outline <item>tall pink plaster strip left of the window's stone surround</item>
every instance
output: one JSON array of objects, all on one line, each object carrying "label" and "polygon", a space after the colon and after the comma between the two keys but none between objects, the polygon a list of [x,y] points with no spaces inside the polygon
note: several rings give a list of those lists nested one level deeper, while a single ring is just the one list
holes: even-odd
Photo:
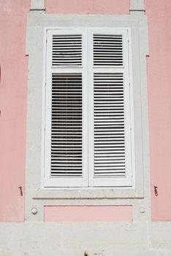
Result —
[{"label": "tall pink plaster strip left of the window's stone surround", "polygon": [[0,221],[24,220],[26,13],[29,0],[0,0]]}]

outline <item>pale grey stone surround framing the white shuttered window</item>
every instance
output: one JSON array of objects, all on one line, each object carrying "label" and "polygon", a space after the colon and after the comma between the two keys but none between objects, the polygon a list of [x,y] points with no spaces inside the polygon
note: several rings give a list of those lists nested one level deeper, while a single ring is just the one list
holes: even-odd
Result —
[{"label": "pale grey stone surround framing the white shuttered window", "polygon": [[[45,93],[45,28],[54,27],[128,27],[132,33],[133,86],[134,100],[134,140],[135,140],[135,187],[103,189],[43,189],[41,188],[41,145],[42,141],[42,108]],[[26,52],[28,62],[28,113],[27,113],[27,153],[26,153],[26,220],[42,221],[43,207],[49,205],[84,205],[86,200],[91,204],[115,203],[131,204],[134,219],[139,219],[139,208],[145,208],[145,219],[150,213],[150,170],[148,145],[148,104],[146,85],[146,60],[148,54],[148,24],[145,15],[39,15],[28,14]],[[35,86],[36,85],[36,86]],[[31,214],[31,208],[38,209]]]}]

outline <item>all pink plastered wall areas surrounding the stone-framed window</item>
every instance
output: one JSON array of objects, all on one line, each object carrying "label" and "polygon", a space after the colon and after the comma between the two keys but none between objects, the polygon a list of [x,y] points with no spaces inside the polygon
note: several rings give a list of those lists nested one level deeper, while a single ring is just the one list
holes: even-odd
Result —
[{"label": "all pink plastered wall areas surrounding the stone-framed window", "polygon": [[[129,0],[47,0],[47,13],[129,14]],[[150,124],[151,197],[153,221],[171,220],[171,2],[145,0],[148,15],[150,56],[147,57],[148,113]],[[25,219],[26,173],[26,90],[28,57],[26,53],[26,15],[29,0],[0,0],[0,221],[23,222]],[[158,196],[153,187],[158,187]],[[23,196],[20,189],[23,189]],[[56,208],[57,207],[57,208]],[[98,210],[93,206],[94,214]],[[115,206],[116,208],[119,206]],[[131,206],[116,211],[106,208],[99,221],[131,221]],[[77,221],[56,217],[58,206],[45,208],[45,221]],[[119,210],[119,211],[118,211]],[[70,208],[66,209],[66,212]],[[82,217],[96,221],[92,206],[82,208]],[[74,213],[73,213],[74,214]],[[112,214],[112,215],[111,215]],[[91,219],[92,217],[92,219]],[[104,218],[103,218],[104,217]],[[59,219],[58,219],[59,218]]]}]

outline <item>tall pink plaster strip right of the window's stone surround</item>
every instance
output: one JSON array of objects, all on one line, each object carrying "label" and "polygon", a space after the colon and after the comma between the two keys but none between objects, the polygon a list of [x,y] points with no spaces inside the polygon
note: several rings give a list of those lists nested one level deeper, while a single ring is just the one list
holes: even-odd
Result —
[{"label": "tall pink plaster strip right of the window's stone surround", "polygon": [[[152,219],[171,220],[171,1],[145,0],[149,21],[148,106]],[[158,187],[158,196],[153,186]]]}]

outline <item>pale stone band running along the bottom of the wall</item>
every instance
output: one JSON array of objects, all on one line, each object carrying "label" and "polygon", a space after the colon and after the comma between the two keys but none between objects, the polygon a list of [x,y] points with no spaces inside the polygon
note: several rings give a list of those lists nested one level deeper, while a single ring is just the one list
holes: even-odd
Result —
[{"label": "pale stone band running along the bottom of the wall", "polygon": [[171,222],[1,222],[0,255],[169,256],[170,233]]}]

